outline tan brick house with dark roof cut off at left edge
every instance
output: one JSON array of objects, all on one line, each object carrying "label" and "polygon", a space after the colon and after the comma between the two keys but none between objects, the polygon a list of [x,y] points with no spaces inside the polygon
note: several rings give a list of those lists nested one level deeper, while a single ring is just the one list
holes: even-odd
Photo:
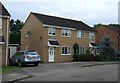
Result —
[{"label": "tan brick house with dark roof cut off at left edge", "polygon": [[8,48],[9,48],[9,22],[10,14],[0,2],[0,57],[3,66],[8,65]]}]

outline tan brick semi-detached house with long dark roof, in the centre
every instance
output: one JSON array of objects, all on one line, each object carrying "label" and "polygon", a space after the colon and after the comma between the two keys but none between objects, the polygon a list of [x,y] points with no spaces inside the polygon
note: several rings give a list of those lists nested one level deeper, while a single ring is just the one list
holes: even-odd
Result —
[{"label": "tan brick semi-detached house with long dark roof, in the centre", "polygon": [[95,43],[95,33],[81,21],[31,12],[21,30],[21,50],[36,50],[43,62],[68,62],[73,45],[85,54]]}]

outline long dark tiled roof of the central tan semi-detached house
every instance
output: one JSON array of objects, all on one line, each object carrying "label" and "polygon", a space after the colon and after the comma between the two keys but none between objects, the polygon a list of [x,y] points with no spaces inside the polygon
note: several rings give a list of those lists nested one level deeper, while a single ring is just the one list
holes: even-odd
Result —
[{"label": "long dark tiled roof of the central tan semi-detached house", "polygon": [[83,23],[82,21],[76,21],[61,17],[55,17],[55,16],[48,16],[38,13],[33,13],[43,24],[47,25],[54,25],[54,26],[61,26],[61,27],[68,27],[68,28],[75,28],[77,30],[85,30],[85,31],[94,31],[90,26]]}]

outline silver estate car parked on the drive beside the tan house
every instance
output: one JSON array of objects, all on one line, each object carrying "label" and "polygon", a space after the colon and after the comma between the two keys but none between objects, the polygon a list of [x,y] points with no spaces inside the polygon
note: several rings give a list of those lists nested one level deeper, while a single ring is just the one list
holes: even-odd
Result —
[{"label": "silver estate car parked on the drive beside the tan house", "polygon": [[10,58],[10,64],[18,66],[25,66],[26,64],[38,66],[40,62],[40,55],[36,51],[19,51]]}]

